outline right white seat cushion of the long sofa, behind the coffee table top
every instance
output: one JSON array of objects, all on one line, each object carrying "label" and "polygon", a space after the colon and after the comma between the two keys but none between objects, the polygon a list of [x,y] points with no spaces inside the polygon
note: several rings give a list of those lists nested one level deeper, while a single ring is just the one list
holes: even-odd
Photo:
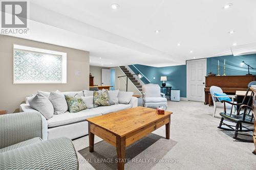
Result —
[{"label": "right white seat cushion of the long sofa, behind the coffee table top", "polygon": [[107,113],[116,112],[116,111],[129,109],[129,108],[132,108],[132,105],[117,104],[117,105],[111,105],[111,106],[100,106],[90,110],[95,112],[100,112],[101,114],[107,114]]}]

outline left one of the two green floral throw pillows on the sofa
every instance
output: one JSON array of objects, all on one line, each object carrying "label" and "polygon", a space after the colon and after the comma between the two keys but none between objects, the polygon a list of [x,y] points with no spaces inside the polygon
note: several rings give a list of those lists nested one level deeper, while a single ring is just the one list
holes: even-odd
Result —
[{"label": "left one of the two green floral throw pillows on the sofa", "polygon": [[86,104],[83,102],[81,96],[78,94],[76,94],[75,96],[65,95],[65,99],[67,101],[70,113],[75,113],[87,109]]}]

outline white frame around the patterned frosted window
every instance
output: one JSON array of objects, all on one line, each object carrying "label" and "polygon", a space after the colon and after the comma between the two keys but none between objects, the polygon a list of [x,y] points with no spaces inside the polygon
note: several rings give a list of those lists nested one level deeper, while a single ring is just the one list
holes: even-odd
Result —
[{"label": "white frame around the patterned frosted window", "polygon": [[[62,57],[62,81],[14,81],[14,50],[25,50],[35,53],[58,55]],[[67,83],[67,53],[45,50],[41,48],[13,44],[13,84],[66,84]]]}]

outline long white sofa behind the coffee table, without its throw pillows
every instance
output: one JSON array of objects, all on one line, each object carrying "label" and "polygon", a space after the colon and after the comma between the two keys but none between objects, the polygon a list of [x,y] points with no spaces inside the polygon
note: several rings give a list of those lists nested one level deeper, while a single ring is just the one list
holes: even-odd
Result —
[{"label": "long white sofa behind the coffee table, without its throw pillows", "polygon": [[[62,92],[67,95],[83,95],[83,91],[70,91]],[[123,92],[122,92],[123,93]],[[46,119],[43,115],[42,117],[42,131],[44,140],[52,139],[57,137],[68,137],[70,139],[75,139],[88,134],[88,122],[87,118],[100,116],[102,114],[108,114],[111,112],[129,109],[138,106],[138,99],[133,97],[128,104],[115,104],[111,106],[100,106],[96,108],[81,110],[76,113],[65,112],[62,114],[54,114],[50,119]],[[21,104],[20,112],[38,112],[31,108],[28,104]]]}]

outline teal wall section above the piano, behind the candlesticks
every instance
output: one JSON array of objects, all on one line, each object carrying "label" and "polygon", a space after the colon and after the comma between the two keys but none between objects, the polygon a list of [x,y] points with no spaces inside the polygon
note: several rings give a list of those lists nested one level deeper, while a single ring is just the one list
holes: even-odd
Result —
[{"label": "teal wall section above the piano, behind the candlesticks", "polygon": [[243,56],[221,56],[207,58],[207,74],[212,72],[218,74],[218,60],[220,61],[220,75],[223,75],[224,59],[226,59],[226,75],[238,76],[246,75],[248,73],[247,65],[241,66],[240,63],[245,63],[252,66],[250,68],[250,74],[256,75],[256,54],[243,55]]}]

